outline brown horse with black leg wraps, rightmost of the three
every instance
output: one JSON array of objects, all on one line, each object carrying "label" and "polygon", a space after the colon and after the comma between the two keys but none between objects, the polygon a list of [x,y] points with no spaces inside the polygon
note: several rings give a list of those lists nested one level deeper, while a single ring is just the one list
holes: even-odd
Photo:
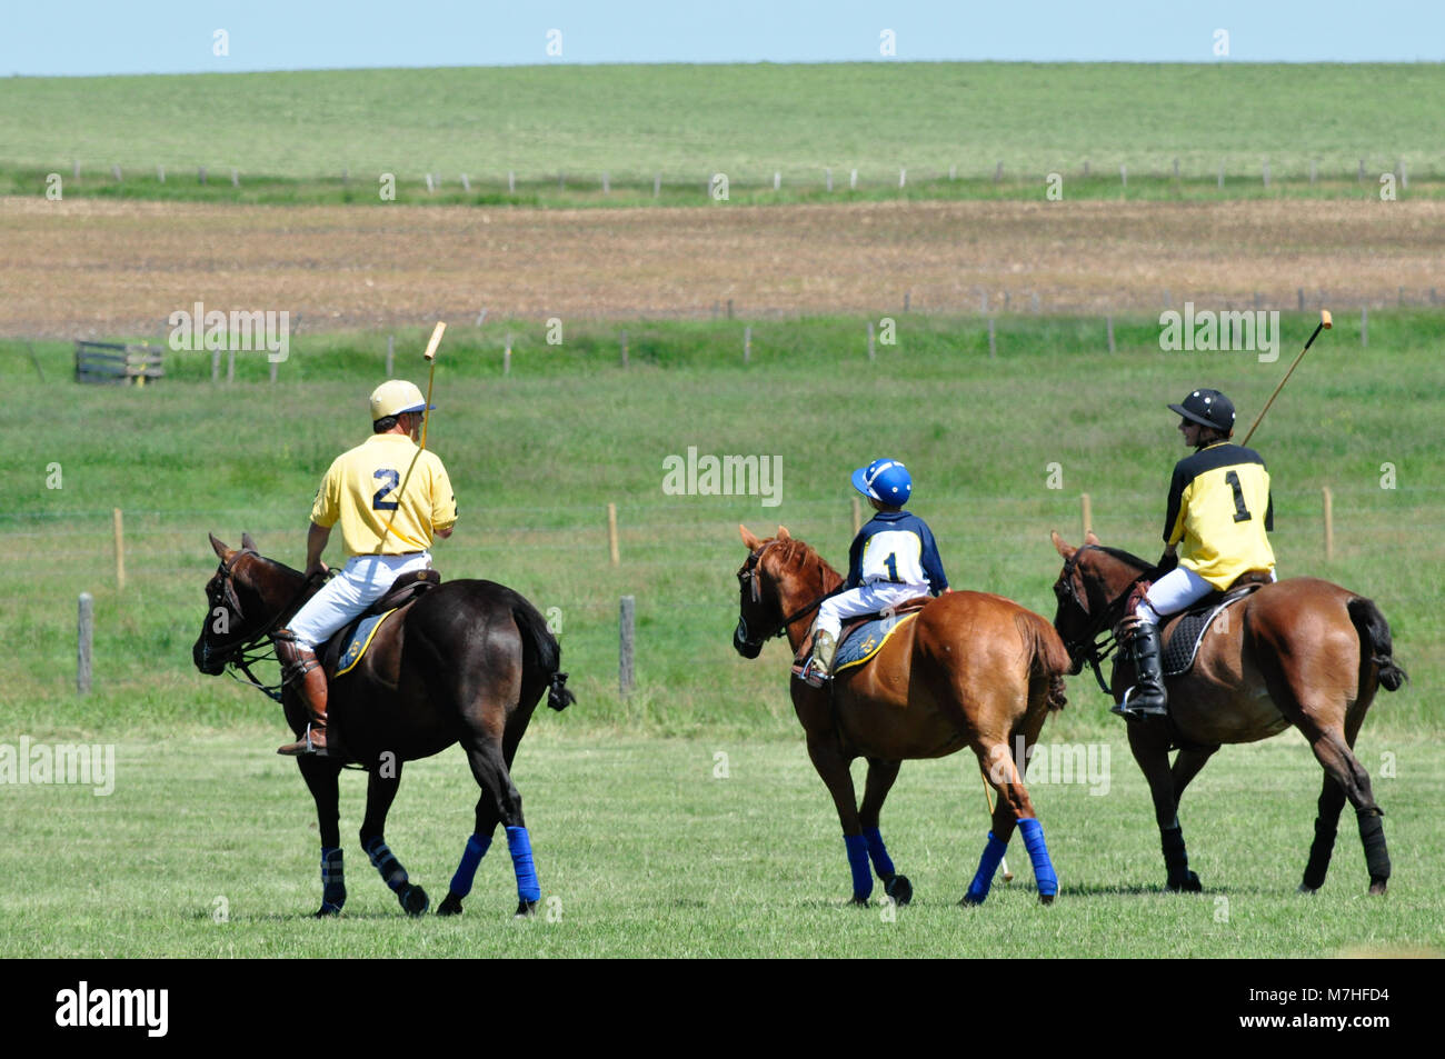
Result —
[{"label": "brown horse with black leg wraps, rightmost of the three", "polygon": [[[1140,582],[1159,571],[1129,552],[1104,548],[1088,533],[1071,548],[1053,533],[1064,569],[1053,584],[1053,626],[1078,673],[1084,663],[1105,693],[1120,701],[1134,682],[1133,665],[1120,659],[1113,688],[1104,686],[1100,662],[1108,654],[1111,628]],[[1384,811],[1376,805],[1370,776],[1354,756],[1355,737],[1377,686],[1396,691],[1407,678],[1393,659],[1390,626],[1371,600],[1319,578],[1289,578],[1259,588],[1221,614],[1199,643],[1194,667],[1166,678],[1168,718],[1129,718],[1129,748],[1155,802],[1163,848],[1166,887],[1198,893],[1199,877],[1179,826],[1179,799],[1205,761],[1224,743],[1254,743],[1290,725],[1309,741],[1325,770],[1315,819],[1315,841],[1299,886],[1314,893],[1325,884],[1335,828],[1345,799],[1355,809],[1370,873],[1370,893],[1383,894],[1390,878]],[[1166,620],[1162,639],[1173,620]],[[1169,751],[1178,747],[1173,767]]]}]

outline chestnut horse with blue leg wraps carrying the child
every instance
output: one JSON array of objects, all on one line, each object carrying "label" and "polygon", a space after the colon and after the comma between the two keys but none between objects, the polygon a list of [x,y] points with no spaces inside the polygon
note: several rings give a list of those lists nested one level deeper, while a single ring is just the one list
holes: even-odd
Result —
[{"label": "chestnut horse with blue leg wraps carrying the child", "polygon": [[[741,598],[733,646],[756,659],[769,639],[786,636],[796,654],[809,615],[842,578],[783,526],[767,540],[746,526],[738,530],[749,556],[737,572]],[[1049,711],[1064,706],[1068,666],[1064,643],[1042,615],[1001,595],[946,592],[889,636],[868,665],[837,675],[822,689],[789,680],[808,756],[838,809],[854,904],[867,904],[873,893],[870,860],[884,893],[897,904],[909,903],[913,887],[894,870],[879,832],[883,802],[903,760],[945,757],[965,747],[998,792],[998,805],[961,903],[981,904],[988,896],[1016,825],[1033,863],[1039,902],[1053,902],[1058,877],[1020,766]],[[861,806],[848,771],[858,757],[868,761]]]}]

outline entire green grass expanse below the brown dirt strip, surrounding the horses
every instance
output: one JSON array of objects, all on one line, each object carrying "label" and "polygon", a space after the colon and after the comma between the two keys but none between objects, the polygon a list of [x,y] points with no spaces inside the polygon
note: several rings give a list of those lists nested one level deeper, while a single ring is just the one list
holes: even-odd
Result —
[{"label": "entire green grass expanse below the brown dirt strip, surrounding the horses", "polygon": [[[906,459],[913,507],[938,535],[957,587],[998,591],[1052,615],[1059,561],[1048,532],[1079,536],[1079,493],[1108,543],[1155,555],[1168,472],[1185,451],[1163,409],[1189,387],[1228,392],[1248,422],[1312,321],[1285,318],[1283,354],[1157,348],[1155,321],[1006,318],[988,358],[978,319],[899,321],[899,344],[868,363],[860,319],[757,321],[741,363],[741,321],[575,325],[561,347],[513,321],[448,331],[431,444],[461,506],[436,548],[447,576],[510,584],[561,618],[578,702],[540,711],[519,753],[543,893],[561,922],[510,922],[501,847],[467,916],[406,922],[355,851],[361,783],[347,776],[348,917],[302,923],[316,903],[309,799],[277,758],[275,706],[198,675],[189,647],[215,568],[207,530],[302,559],[315,485],[367,431],[384,337],[302,335],[266,381],[260,354],[212,386],[210,355],[168,354],[144,389],[71,381],[62,344],[0,344],[12,399],[3,428],[9,510],[0,514],[0,743],[113,743],[116,793],[0,790],[10,838],[0,868],[0,955],[1332,955],[1442,945],[1435,806],[1445,728],[1435,636],[1445,496],[1438,409],[1445,314],[1371,316],[1370,345],[1342,319],[1276,402],[1256,445],[1276,485],[1274,546],[1285,575],[1314,574],[1371,595],[1413,683],[1381,695],[1361,760],[1389,811],[1396,878],[1366,900],[1348,816],[1332,881],[1315,902],[1293,889],[1311,837],[1319,769],[1296,735],[1225,748],[1183,808],[1201,897],[1166,897],[1147,792],[1120,724],[1088,676],[1045,741],[1107,743],[1110,795],[1042,784],[1035,793],[1064,878],[1052,910],[1020,873],[980,912],[954,906],[984,838],[975,766],[910,763],[884,832],[919,891],[896,922],[842,907],[837,819],[808,764],[786,692],[786,654],[756,662],[730,644],[743,559],[737,523],[785,523],[841,565],[853,467]],[[513,370],[499,337],[512,328]],[[397,373],[425,384],[420,334],[397,342]],[[33,357],[32,357],[33,354]],[[43,376],[43,380],[42,380]],[[759,496],[666,496],[663,458],[780,455],[776,507]],[[1381,465],[1396,488],[1381,488]],[[58,464],[59,467],[53,467]],[[1058,464],[1062,488],[1049,488]],[[59,474],[59,488],[48,480]],[[1334,490],[1337,555],[1322,556],[1321,487]],[[621,563],[607,558],[605,506],[618,506]],[[116,588],[111,509],[124,510],[124,592]],[[340,559],[334,548],[331,556]],[[95,595],[95,691],[74,692],[75,598]],[[617,601],[637,598],[639,691],[617,693]],[[730,777],[712,779],[714,754]],[[1387,756],[1392,756],[1387,758]],[[1394,777],[1387,773],[1393,760]],[[457,751],[407,766],[387,838],[445,893],[470,829],[474,784]],[[212,922],[224,897],[230,920]],[[1221,903],[1221,900],[1224,903]],[[980,929],[978,916],[988,929]],[[1218,919],[1218,916],[1225,919]],[[124,929],[117,929],[117,923]]]}]

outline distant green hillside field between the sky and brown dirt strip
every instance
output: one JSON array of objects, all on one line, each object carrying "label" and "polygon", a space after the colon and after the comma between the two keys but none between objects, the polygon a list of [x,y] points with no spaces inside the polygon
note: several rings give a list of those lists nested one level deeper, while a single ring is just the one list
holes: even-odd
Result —
[{"label": "distant green hillside field between the sky and brown dirt strip", "polygon": [[575,205],[650,202],[660,173],[660,201],[691,202],[725,172],[736,201],[799,201],[824,194],[825,168],[840,194],[857,169],[860,195],[893,196],[903,166],[920,196],[1042,195],[1049,172],[1071,196],[1116,196],[1123,163],[1130,195],[1209,196],[1222,163],[1235,196],[1266,194],[1269,162],[1270,194],[1358,195],[1402,159],[1415,194],[1439,194],[1442,78],[1438,64],[881,62],[6,78],[0,194],[40,194],[58,172],[81,195],[367,202],[392,172],[399,201]]}]

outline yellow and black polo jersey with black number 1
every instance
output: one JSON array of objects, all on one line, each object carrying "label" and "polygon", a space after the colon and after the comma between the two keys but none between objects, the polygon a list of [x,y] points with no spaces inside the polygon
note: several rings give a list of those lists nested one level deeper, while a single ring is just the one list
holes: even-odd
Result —
[{"label": "yellow and black polo jersey with black number 1", "polygon": [[1175,465],[1165,543],[1179,545],[1181,566],[1220,589],[1250,571],[1272,571],[1266,530],[1273,529],[1269,471],[1254,449],[1218,442]]}]

